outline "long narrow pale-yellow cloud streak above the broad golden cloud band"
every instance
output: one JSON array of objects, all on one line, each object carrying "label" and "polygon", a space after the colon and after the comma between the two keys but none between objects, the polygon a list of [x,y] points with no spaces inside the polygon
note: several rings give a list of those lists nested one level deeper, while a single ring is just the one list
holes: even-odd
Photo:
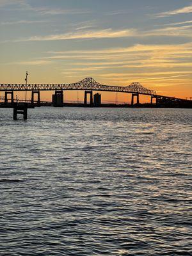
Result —
[{"label": "long narrow pale-yellow cloud streak above the broad golden cloud band", "polygon": [[59,35],[48,36],[31,36],[30,38],[22,38],[15,42],[28,41],[52,41],[52,40],[70,40],[70,39],[92,39],[92,38],[120,38],[134,35],[134,29],[113,30],[102,29],[97,31],[76,31],[74,33],[65,33]]}]

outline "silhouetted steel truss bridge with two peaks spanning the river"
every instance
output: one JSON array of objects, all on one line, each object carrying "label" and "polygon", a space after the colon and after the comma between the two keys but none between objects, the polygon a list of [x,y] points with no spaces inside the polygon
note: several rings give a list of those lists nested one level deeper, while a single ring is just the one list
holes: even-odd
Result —
[{"label": "silhouetted steel truss bridge with two peaks spanning the river", "polygon": [[83,90],[84,104],[87,103],[87,94],[90,93],[90,104],[93,103],[93,91],[100,92],[120,92],[132,93],[132,105],[134,104],[134,97],[137,98],[136,102],[139,104],[139,95],[149,95],[151,103],[153,99],[157,102],[160,101],[186,101],[175,97],[168,97],[157,95],[156,91],[149,90],[143,87],[140,83],[132,83],[129,86],[111,86],[97,83],[92,77],[86,77],[82,81],[71,84],[0,84],[0,92],[5,92],[4,103],[8,102],[7,95],[12,95],[12,102],[14,101],[13,92],[26,92],[31,91],[31,103],[34,102],[34,94],[38,95],[38,103],[40,103],[40,91],[55,91],[55,95],[60,95],[63,99],[63,91],[67,90]]}]

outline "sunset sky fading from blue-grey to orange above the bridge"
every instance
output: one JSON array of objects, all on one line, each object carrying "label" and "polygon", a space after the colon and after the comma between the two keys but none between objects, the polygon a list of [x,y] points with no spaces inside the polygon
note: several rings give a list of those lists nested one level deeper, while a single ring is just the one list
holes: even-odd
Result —
[{"label": "sunset sky fading from blue-grey to orange above the bridge", "polygon": [[192,0],[0,0],[0,83],[24,83],[26,71],[29,83],[93,77],[192,97]]}]

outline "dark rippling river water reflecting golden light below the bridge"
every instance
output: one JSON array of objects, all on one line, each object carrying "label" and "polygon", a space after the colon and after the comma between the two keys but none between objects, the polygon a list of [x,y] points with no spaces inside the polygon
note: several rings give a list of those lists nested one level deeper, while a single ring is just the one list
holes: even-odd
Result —
[{"label": "dark rippling river water reflecting golden light below the bridge", "polygon": [[190,109],[0,109],[0,255],[192,255]]}]

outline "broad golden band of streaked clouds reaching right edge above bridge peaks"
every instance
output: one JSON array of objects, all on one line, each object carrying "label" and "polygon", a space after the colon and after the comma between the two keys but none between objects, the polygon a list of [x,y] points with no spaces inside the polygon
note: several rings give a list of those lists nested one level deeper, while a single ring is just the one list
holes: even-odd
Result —
[{"label": "broad golden band of streaked clouds reaching right edge above bridge peaks", "polygon": [[[77,72],[77,74],[92,74],[93,72],[106,71],[109,77],[122,78],[131,76],[128,74],[113,73],[115,70],[129,70],[140,68],[147,70],[150,74],[160,76],[166,73],[166,79],[186,79],[185,76],[191,76],[192,67],[192,43],[182,45],[133,45],[125,48],[100,49],[90,51],[64,51],[64,52],[48,52],[53,55],[44,57],[47,60],[62,60],[68,58],[70,63],[67,63],[65,72]],[[77,60],[82,60],[81,62]],[[167,71],[169,68],[169,72]],[[157,72],[161,70],[161,72]],[[179,71],[177,71],[179,70]],[[114,75],[113,75],[114,74]],[[141,76],[141,71],[136,74]],[[99,75],[98,75],[99,76]],[[104,77],[108,77],[104,76]],[[144,78],[144,77],[143,77]],[[147,78],[147,77],[146,77]],[[159,78],[164,79],[164,76]],[[155,80],[155,79],[154,79]]]}]

